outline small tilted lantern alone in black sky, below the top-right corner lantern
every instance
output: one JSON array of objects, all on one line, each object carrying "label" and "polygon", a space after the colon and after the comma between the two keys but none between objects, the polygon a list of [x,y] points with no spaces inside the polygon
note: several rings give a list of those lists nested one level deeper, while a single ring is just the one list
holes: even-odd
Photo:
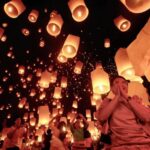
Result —
[{"label": "small tilted lantern alone in black sky, below the top-right corner lantern", "polygon": [[114,19],[114,23],[116,27],[122,32],[129,30],[131,26],[131,22],[121,15]]}]

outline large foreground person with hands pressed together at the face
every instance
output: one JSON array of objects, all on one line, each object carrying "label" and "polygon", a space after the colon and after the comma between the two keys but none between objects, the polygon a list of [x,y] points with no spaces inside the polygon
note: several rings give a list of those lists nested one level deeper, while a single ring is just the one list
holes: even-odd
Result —
[{"label": "large foreground person with hands pressed together at the face", "polygon": [[128,81],[122,76],[111,78],[110,86],[114,98],[104,98],[96,112],[102,133],[110,136],[107,149],[150,149],[150,108],[138,96],[127,95]]}]

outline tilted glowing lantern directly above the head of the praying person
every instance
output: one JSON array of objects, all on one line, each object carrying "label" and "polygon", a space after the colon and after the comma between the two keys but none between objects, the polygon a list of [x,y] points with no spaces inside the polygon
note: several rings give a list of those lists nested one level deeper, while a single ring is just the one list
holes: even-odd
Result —
[{"label": "tilted glowing lantern directly above the head of the praying person", "polygon": [[134,68],[129,60],[126,49],[119,48],[115,55],[115,63],[120,76],[130,81],[143,82],[142,78],[135,75]]}]

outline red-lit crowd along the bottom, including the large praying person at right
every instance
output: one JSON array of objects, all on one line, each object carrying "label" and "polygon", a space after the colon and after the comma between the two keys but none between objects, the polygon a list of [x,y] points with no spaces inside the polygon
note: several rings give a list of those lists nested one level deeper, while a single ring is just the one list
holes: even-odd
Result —
[{"label": "red-lit crowd along the bottom, including the large praying person at right", "polygon": [[[60,115],[53,117],[48,127],[41,127],[40,142],[20,118],[10,128],[4,120],[2,150],[149,150],[150,108],[140,97],[128,96],[128,81],[123,77],[111,78],[110,85],[114,97],[106,95],[96,111],[95,127],[101,132],[96,144],[88,130],[89,122],[76,113],[70,122],[62,121]],[[72,141],[67,140],[68,128]]]}]

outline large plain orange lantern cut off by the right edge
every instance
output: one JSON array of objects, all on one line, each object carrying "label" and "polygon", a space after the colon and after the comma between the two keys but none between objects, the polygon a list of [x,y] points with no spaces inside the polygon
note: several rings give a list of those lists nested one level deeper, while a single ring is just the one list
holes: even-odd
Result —
[{"label": "large plain orange lantern cut off by the right edge", "polygon": [[127,47],[129,59],[135,74],[150,81],[150,19],[138,33],[136,39]]}]

